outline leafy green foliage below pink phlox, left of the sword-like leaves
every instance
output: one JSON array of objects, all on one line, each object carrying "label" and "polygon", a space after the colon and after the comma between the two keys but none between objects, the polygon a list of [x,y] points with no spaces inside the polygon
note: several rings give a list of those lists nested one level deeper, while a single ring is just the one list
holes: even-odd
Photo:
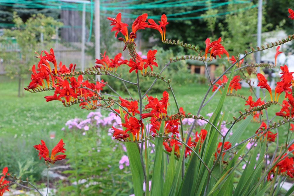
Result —
[{"label": "leafy green foliage below pink phlox, left of the sword-like leaves", "polygon": [[59,187],[59,195],[131,194],[131,173],[128,167],[118,168],[124,155],[122,145],[107,135],[107,130],[96,125],[85,135],[79,129],[66,130],[66,160],[71,170],[64,174],[69,175],[69,184],[74,184]]}]

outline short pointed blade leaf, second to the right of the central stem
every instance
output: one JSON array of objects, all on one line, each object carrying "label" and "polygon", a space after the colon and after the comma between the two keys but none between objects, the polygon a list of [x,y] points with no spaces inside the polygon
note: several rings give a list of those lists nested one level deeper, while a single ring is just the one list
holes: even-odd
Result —
[{"label": "short pointed blade leaf, second to the right of the central stem", "polygon": [[163,186],[163,196],[168,195],[171,190],[171,185],[173,183],[173,178],[175,177],[175,145],[173,145],[173,149],[171,150],[171,156],[168,163],[168,169],[166,172],[165,182]]}]

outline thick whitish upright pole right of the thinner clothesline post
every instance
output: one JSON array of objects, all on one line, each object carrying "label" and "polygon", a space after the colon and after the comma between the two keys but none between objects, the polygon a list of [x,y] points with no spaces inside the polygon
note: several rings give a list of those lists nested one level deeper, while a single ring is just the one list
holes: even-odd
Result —
[{"label": "thick whitish upright pole right of the thinner clothesline post", "polygon": [[[100,58],[100,1],[95,0],[95,58]],[[98,81],[100,76],[96,76]]]}]

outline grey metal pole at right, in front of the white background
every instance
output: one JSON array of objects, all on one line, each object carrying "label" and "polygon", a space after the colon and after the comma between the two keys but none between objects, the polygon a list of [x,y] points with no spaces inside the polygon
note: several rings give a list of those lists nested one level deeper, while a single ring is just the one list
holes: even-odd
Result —
[{"label": "grey metal pole at right, in front of the white background", "polygon": [[[257,15],[257,46],[261,48],[261,24],[262,24],[262,0],[258,0],[258,15]],[[260,63],[260,51],[256,52],[256,63]],[[257,67],[257,73],[260,68]],[[256,96],[260,97],[259,88],[256,87]]]}]

